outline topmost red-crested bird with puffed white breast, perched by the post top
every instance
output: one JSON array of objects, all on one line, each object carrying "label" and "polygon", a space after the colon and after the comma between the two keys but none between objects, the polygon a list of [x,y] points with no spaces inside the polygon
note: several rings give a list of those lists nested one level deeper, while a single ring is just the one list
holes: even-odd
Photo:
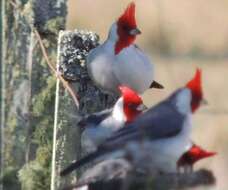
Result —
[{"label": "topmost red-crested bird with puffed white breast, perched by the post top", "polygon": [[154,81],[154,66],[148,56],[134,44],[140,33],[132,2],[112,24],[107,40],[89,53],[88,73],[107,93],[118,94],[120,85],[129,86],[139,94],[150,87],[163,88]]}]

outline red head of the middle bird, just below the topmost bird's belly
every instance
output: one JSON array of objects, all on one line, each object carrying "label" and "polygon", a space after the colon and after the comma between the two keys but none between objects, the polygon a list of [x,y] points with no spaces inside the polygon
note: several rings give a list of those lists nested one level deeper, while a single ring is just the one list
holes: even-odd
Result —
[{"label": "red head of the middle bird, just below the topmost bird's belly", "polygon": [[145,106],[143,105],[142,98],[131,88],[120,86],[119,90],[123,97],[123,109],[127,122],[131,122],[145,110]]}]

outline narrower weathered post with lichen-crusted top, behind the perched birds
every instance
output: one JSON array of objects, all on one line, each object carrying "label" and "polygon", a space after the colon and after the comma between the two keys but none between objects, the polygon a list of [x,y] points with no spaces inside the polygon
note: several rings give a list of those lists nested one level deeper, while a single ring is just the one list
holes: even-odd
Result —
[{"label": "narrower weathered post with lichen-crusted top, behind the perched birds", "polygon": [[[58,173],[72,160],[78,159],[83,150],[80,149],[80,131],[77,122],[84,114],[104,109],[102,102],[104,94],[93,84],[86,69],[86,56],[88,52],[99,43],[97,34],[89,31],[62,31],[59,34],[58,44],[58,70],[64,78],[71,81],[77,92],[80,106],[76,109],[72,99],[65,89],[57,83],[56,101],[57,112],[55,115],[55,134],[53,142],[53,171],[52,190],[63,187],[74,181],[76,175],[72,174],[67,179],[59,179]],[[60,85],[60,86],[59,86]],[[115,98],[108,98],[108,105],[113,105]]]}]

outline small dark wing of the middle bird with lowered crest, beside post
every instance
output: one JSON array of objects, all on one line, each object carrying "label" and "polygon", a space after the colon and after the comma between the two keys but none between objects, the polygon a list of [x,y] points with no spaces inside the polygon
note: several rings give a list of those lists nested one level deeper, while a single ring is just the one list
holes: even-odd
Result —
[{"label": "small dark wing of the middle bird with lowered crest, beside post", "polygon": [[84,129],[87,126],[97,126],[99,125],[105,118],[109,117],[112,113],[112,108],[110,109],[106,109],[104,111],[101,112],[97,112],[97,113],[93,113],[91,115],[88,115],[86,117],[84,117],[83,119],[81,119],[78,122],[78,126],[81,129]]}]

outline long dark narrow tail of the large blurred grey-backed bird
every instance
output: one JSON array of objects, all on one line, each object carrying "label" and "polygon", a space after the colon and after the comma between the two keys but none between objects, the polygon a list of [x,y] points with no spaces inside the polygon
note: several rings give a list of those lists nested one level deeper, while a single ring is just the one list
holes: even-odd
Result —
[{"label": "long dark narrow tail of the large blurred grey-backed bird", "polygon": [[90,153],[89,155],[85,156],[84,158],[78,160],[78,161],[74,161],[73,163],[71,163],[68,167],[66,167],[65,169],[63,169],[60,172],[60,176],[65,176],[68,175],[69,173],[71,173],[74,170],[77,170],[78,168],[80,168],[81,166],[89,163],[90,161],[95,160],[96,158],[98,158],[100,155],[102,154],[102,151],[95,151],[93,153]]}]

